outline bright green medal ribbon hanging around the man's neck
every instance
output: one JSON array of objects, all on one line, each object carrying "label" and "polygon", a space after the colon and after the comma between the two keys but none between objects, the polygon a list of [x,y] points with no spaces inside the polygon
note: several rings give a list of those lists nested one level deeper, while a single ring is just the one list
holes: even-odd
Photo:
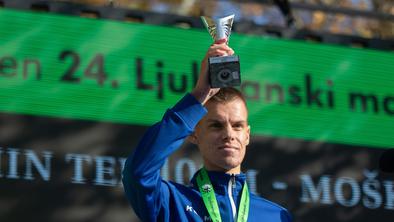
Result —
[{"label": "bright green medal ribbon hanging around the man's neck", "polygon": [[[221,222],[218,202],[207,170],[202,168],[197,176],[197,185],[213,222]],[[249,215],[249,189],[246,182],[242,188],[241,203],[239,204],[237,222],[246,222]]]}]

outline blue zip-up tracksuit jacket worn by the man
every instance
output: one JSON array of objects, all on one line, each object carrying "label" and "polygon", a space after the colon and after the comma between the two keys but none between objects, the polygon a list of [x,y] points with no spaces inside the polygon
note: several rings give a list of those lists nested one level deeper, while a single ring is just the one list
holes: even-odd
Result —
[{"label": "blue zip-up tracksuit jacket worn by the man", "polygon": [[[149,128],[128,157],[123,185],[127,199],[142,221],[211,221],[196,183],[197,173],[190,186],[160,177],[165,159],[182,145],[206,112],[192,95],[187,94],[167,110],[162,121]],[[234,221],[245,174],[208,171],[208,175],[214,186],[222,221]],[[289,222],[291,217],[286,209],[250,194],[248,221]]]}]

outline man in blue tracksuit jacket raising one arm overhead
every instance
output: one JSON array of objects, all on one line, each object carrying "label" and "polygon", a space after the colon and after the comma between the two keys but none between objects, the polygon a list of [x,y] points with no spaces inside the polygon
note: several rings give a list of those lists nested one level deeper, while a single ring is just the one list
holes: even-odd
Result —
[{"label": "man in blue tracksuit jacket raising one arm overhead", "polygon": [[[250,194],[241,173],[250,137],[242,94],[209,86],[207,58],[233,53],[225,39],[214,43],[193,91],[167,110],[127,159],[124,189],[142,221],[291,221],[286,209]],[[189,187],[160,177],[165,159],[186,138],[204,161]]]}]

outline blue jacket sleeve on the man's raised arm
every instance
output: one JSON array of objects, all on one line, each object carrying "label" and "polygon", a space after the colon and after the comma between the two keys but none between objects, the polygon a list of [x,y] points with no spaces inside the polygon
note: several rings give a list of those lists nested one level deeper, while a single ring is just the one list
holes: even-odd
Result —
[{"label": "blue jacket sleeve on the man's raised arm", "polygon": [[177,150],[206,114],[206,109],[187,94],[163,119],[151,126],[127,158],[123,186],[135,213],[143,221],[168,215],[169,190],[160,177],[166,158]]}]

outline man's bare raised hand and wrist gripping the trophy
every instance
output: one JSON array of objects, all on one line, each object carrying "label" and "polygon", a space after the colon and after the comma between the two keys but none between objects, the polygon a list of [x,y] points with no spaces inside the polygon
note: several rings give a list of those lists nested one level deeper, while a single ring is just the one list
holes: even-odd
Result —
[{"label": "man's bare raised hand and wrist gripping the trophy", "polygon": [[220,39],[209,47],[201,62],[200,76],[198,77],[197,84],[191,92],[202,104],[205,104],[212,96],[219,92],[219,88],[211,88],[209,85],[208,58],[233,54],[234,51],[227,45],[227,39]]}]

